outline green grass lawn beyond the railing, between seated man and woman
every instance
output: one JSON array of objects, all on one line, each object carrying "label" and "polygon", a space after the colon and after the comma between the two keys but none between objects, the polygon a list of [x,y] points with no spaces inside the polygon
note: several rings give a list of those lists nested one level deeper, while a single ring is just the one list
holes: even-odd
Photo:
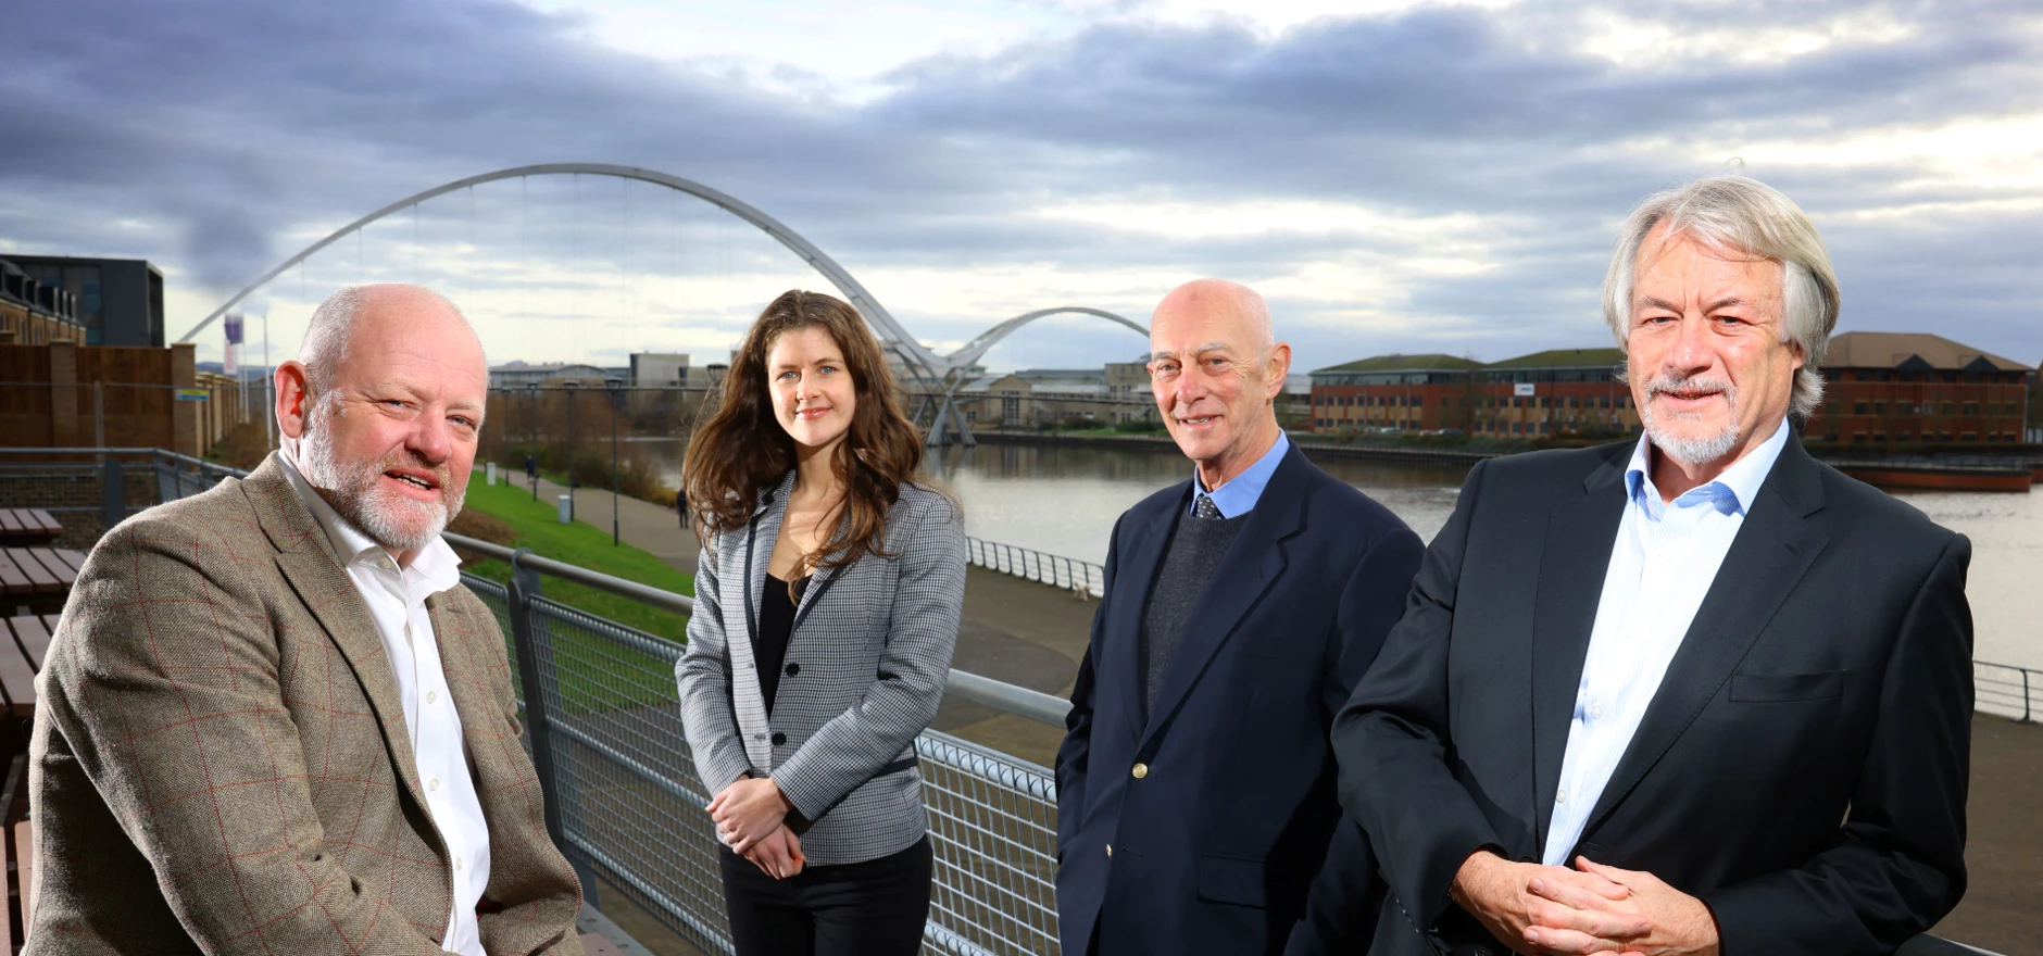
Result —
[{"label": "green grass lawn beyond the railing, between seated man and woman", "polygon": [[[674,570],[660,558],[654,558],[637,547],[611,545],[611,535],[605,535],[595,525],[580,521],[562,525],[554,511],[554,503],[531,500],[529,488],[515,488],[509,484],[490,486],[476,476],[468,482],[466,507],[511,525],[515,535],[511,547],[531,547],[541,558],[574,564],[576,568],[588,568],[615,578],[650,584],[660,590],[695,594],[693,576]],[[511,566],[505,562],[478,562],[464,566],[462,570],[498,582],[511,580]],[[627,627],[637,627],[639,631],[666,637],[670,641],[686,639],[682,635],[686,619],[672,611],[648,607],[625,596],[560,578],[545,578],[541,582],[541,590],[545,596],[590,615],[605,617]]]}]

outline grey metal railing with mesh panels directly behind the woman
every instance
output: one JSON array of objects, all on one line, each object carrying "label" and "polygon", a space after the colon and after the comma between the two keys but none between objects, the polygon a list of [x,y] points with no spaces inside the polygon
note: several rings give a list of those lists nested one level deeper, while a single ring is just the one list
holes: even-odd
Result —
[{"label": "grey metal railing with mesh panels directly behind the woman", "polygon": [[[462,535],[503,560],[511,582],[462,580],[496,613],[515,660],[548,831],[582,870],[707,952],[731,952],[717,840],[674,697],[682,643],[543,594],[558,578],[686,615],[695,601]],[[531,688],[539,688],[533,695]],[[946,692],[1062,725],[1056,697],[950,672]],[[936,852],[923,952],[1054,954],[1056,780],[1044,766],[925,731],[921,795]],[[601,903],[599,903],[601,907]]]}]

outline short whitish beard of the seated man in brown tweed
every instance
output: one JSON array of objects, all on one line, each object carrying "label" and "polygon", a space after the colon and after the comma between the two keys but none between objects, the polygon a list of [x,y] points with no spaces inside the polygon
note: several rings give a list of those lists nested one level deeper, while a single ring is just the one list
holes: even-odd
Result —
[{"label": "short whitish beard of the seated man in brown tweed", "polygon": [[[331,413],[329,413],[331,415]],[[362,529],[372,541],[394,552],[425,547],[454,515],[462,513],[466,488],[456,488],[447,470],[433,468],[417,456],[396,449],[378,462],[339,462],[333,451],[331,423],[323,421],[321,409],[306,417],[304,437],[298,439],[298,474],[313,488],[319,488],[327,505],[333,505],[349,525]],[[378,478],[394,468],[421,468],[439,480],[437,503],[413,500],[378,486]],[[407,517],[415,521],[405,521]],[[423,523],[421,523],[423,521]]]}]

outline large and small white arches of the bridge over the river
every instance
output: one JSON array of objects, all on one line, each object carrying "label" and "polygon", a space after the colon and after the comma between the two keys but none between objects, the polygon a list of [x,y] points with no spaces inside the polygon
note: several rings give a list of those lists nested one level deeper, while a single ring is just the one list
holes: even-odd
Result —
[{"label": "large and small white arches of the bridge over the river", "polygon": [[[930,351],[930,347],[925,347],[921,341],[917,341],[913,335],[909,335],[907,329],[903,329],[901,323],[893,317],[893,313],[889,313],[887,306],[883,306],[878,302],[878,298],[874,298],[872,292],[866,290],[866,286],[862,286],[856,278],[852,278],[852,274],[844,266],[840,266],[838,259],[832,259],[829,253],[825,253],[823,249],[817,249],[815,243],[811,243],[809,239],[803,239],[801,233],[795,233],[793,229],[789,229],[787,225],[782,225],[778,219],[768,217],[766,212],[754,208],[752,204],[748,204],[748,202],[744,202],[744,200],[740,200],[740,198],[735,198],[735,196],[731,196],[727,192],[713,190],[713,188],[703,186],[703,184],[699,184],[695,180],[684,180],[680,176],[664,174],[664,172],[658,172],[658,170],[642,170],[642,168],[635,168],[635,165],[615,165],[615,163],[537,163],[537,165],[515,165],[515,168],[509,168],[509,170],[486,172],[486,174],[480,174],[480,176],[470,176],[466,180],[454,180],[449,184],[435,186],[431,190],[417,192],[413,196],[405,196],[405,198],[400,198],[400,200],[396,200],[396,202],[392,202],[392,204],[388,204],[384,208],[378,208],[376,212],[370,212],[370,214],[366,214],[366,217],[362,217],[362,219],[358,219],[353,223],[347,223],[345,227],[335,229],[325,239],[321,239],[321,241],[317,241],[313,245],[306,245],[296,255],[284,259],[282,264],[278,264],[274,270],[266,272],[255,282],[249,282],[247,286],[243,286],[229,300],[221,302],[221,306],[215,308],[212,315],[204,317],[198,325],[194,325],[190,331],[186,331],[184,335],[180,335],[178,341],[192,341],[192,337],[196,337],[198,333],[202,333],[208,325],[212,325],[223,315],[227,315],[229,308],[233,308],[235,304],[239,304],[243,298],[247,298],[251,292],[255,292],[257,288],[262,288],[270,280],[282,276],[292,266],[308,259],[313,253],[317,253],[317,251],[321,251],[321,249],[325,249],[325,247],[341,241],[349,233],[355,233],[362,227],[368,227],[370,223],[376,223],[378,219],[390,217],[394,212],[400,212],[405,208],[417,206],[419,202],[425,202],[425,200],[435,198],[435,196],[443,196],[447,192],[466,190],[470,186],[480,186],[480,184],[486,184],[486,182],[515,180],[515,178],[523,178],[523,176],[611,176],[611,178],[619,178],[619,180],[650,182],[650,184],[656,184],[656,186],[666,186],[670,190],[684,192],[684,194],[695,196],[699,200],[705,200],[705,202],[709,202],[709,204],[713,204],[713,206],[717,206],[717,208],[721,208],[721,210],[725,210],[725,212],[729,212],[729,214],[733,214],[738,219],[744,219],[746,223],[752,223],[762,233],[770,235],[774,241],[778,241],[780,245],[785,245],[789,251],[793,251],[795,255],[801,255],[801,259],[807,261],[811,268],[815,268],[815,272],[821,272],[823,278],[827,278],[832,286],[838,286],[838,292],[842,292],[844,298],[850,300],[852,306],[856,306],[858,313],[864,315],[868,323],[872,323],[872,327],[878,333],[881,341],[885,341],[887,347],[893,349],[895,355],[901,357],[901,362],[907,366],[909,374],[913,374],[913,376],[917,376],[917,378],[921,378],[925,382],[932,382],[932,384],[936,384],[942,390],[940,396],[930,396],[932,402],[925,402],[925,404],[934,404],[934,413],[936,413],[936,417],[934,417],[934,421],[930,423],[930,429],[928,429],[930,443],[950,443],[950,441],[962,441],[966,445],[977,443],[972,439],[972,431],[964,425],[964,417],[958,415],[958,407],[956,407],[956,390],[958,390],[958,386],[964,384],[964,370],[970,368],[972,362],[979,362],[979,357],[985,355],[987,349],[991,349],[997,341],[1005,339],[1007,335],[1011,335],[1013,331],[1022,329],[1024,325],[1034,323],[1036,319],[1044,319],[1044,317],[1060,315],[1060,313],[1095,315],[1095,317],[1101,317],[1101,319],[1126,325],[1128,329],[1134,329],[1136,333],[1148,337],[1148,329],[1144,329],[1142,325],[1136,325],[1136,323],[1132,323],[1132,321],[1128,321],[1124,317],[1118,317],[1113,313],[1105,313],[1105,310],[1099,310],[1099,308],[1087,308],[1087,306],[1058,306],[1058,308],[1040,308],[1040,310],[1034,310],[1034,313],[1017,315],[1017,317],[1013,317],[1013,319],[1009,319],[1005,323],[995,325],[993,329],[987,329],[985,333],[981,333],[979,337],[975,337],[972,341],[968,341],[962,349],[958,349],[958,351],[954,351],[950,355],[936,355],[934,351]],[[917,413],[917,419],[919,417],[921,417],[921,413]]]}]

